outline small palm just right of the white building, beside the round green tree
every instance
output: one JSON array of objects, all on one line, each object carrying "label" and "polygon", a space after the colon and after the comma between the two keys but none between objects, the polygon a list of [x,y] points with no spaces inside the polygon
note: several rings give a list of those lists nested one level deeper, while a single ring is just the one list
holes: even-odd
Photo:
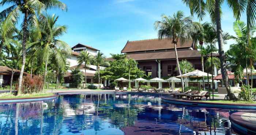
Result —
[{"label": "small palm just right of the white building, beside the round green tree", "polygon": [[[97,70],[98,70],[98,81],[100,84],[100,77],[99,77],[99,70],[100,70],[100,65],[108,65],[108,62],[104,61],[105,57],[103,56],[103,53],[99,52],[96,54],[96,56],[94,57],[94,64],[97,66]],[[98,85],[99,85],[98,84]],[[98,86],[100,89],[100,86]]]}]

